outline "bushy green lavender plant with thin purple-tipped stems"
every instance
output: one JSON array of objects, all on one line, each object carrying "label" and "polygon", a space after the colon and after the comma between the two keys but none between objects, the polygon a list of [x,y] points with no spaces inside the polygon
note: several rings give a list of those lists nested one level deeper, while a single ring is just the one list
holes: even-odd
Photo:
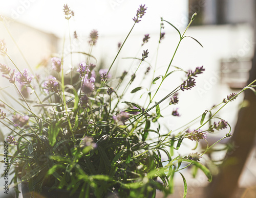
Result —
[{"label": "bushy green lavender plant with thin purple-tipped stems", "polygon": [[[63,11],[69,20],[72,11],[68,5],[64,5]],[[134,26],[145,11],[145,5],[140,5],[133,18]],[[195,17],[196,13],[187,28]],[[164,22],[176,29],[180,42],[187,37],[187,28],[181,34],[172,23],[161,19],[159,43],[164,38]],[[143,44],[149,38],[146,34]],[[93,30],[89,53],[80,52],[86,58],[74,66],[69,78],[64,73],[66,62],[63,54],[51,58],[55,77],[48,76],[46,79],[31,76],[28,69],[21,71],[14,62],[16,70],[1,63],[3,77],[17,89],[22,98],[22,102],[17,102],[24,108],[23,112],[19,112],[1,100],[5,108],[0,112],[1,123],[11,132],[6,138],[6,143],[9,143],[9,154],[6,156],[9,160],[8,171],[14,174],[12,182],[17,196],[17,184],[22,183],[24,196],[27,193],[28,197],[36,197],[37,194],[46,197],[108,197],[114,194],[119,197],[155,197],[156,189],[165,195],[172,192],[174,174],[179,172],[184,181],[185,197],[187,185],[180,170],[190,165],[200,168],[210,181],[210,171],[199,162],[200,158],[220,140],[230,137],[230,131],[201,154],[190,152],[187,156],[181,156],[174,151],[179,150],[185,138],[196,142],[206,141],[207,133],[230,128],[225,120],[216,118],[216,114],[246,88],[237,94],[228,95],[219,105],[203,112],[194,130],[189,131],[185,127],[185,130],[174,133],[169,129],[167,134],[163,134],[160,125],[155,127],[162,118],[160,105],[166,102],[168,106],[177,104],[178,93],[193,88],[197,76],[205,68],[200,66],[189,71],[177,67],[173,69],[172,61],[179,42],[166,72],[158,77],[153,74],[150,88],[145,92],[146,102],[127,101],[124,94],[128,87],[134,86],[136,72],[149,52],[145,49],[140,58],[136,57],[140,63],[132,76],[129,77],[124,71],[120,77],[111,78],[110,71],[126,39],[119,44],[114,61],[105,70],[100,70],[94,64],[94,57],[90,53],[97,39],[98,33]],[[3,41],[0,42],[0,48],[0,52],[11,60]],[[145,76],[150,69],[149,64]],[[184,81],[160,101],[153,103],[163,81],[177,70],[185,73]],[[113,86],[110,86],[110,80]],[[153,91],[151,88],[156,83],[157,89]],[[26,98],[17,84],[22,85],[23,89],[31,89],[30,97],[34,95],[36,102]],[[252,88],[252,84],[247,88]],[[141,91],[143,87],[137,86],[130,94]],[[179,116],[177,109],[172,115]],[[206,115],[209,115],[208,119],[205,119]],[[208,125],[211,119],[215,120]],[[151,134],[156,134],[157,138],[152,139]],[[166,160],[163,160],[163,156]]]}]

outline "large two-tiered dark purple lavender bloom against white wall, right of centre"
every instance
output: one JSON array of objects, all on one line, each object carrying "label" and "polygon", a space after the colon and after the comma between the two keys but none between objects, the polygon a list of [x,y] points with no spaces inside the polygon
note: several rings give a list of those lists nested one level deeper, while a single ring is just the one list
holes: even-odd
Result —
[{"label": "large two-tiered dark purple lavender bloom against white wall, right of centre", "polygon": [[188,71],[187,73],[187,80],[183,81],[183,83],[180,86],[180,89],[182,91],[191,89],[196,85],[196,80],[194,77],[197,77],[198,74],[203,73],[205,69],[202,67],[197,67],[195,71]]}]

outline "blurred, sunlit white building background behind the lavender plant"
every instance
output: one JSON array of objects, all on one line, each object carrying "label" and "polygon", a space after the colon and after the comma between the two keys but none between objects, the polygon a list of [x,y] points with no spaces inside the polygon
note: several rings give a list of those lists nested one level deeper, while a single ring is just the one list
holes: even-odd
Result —
[{"label": "blurred, sunlit white building background behind the lavender plant", "polygon": [[[71,10],[74,11],[74,17],[71,17],[69,25],[62,12],[64,4],[68,4]],[[191,118],[197,117],[213,105],[221,103],[223,98],[231,92],[239,92],[247,85],[250,70],[255,67],[253,59],[256,1],[254,0],[0,1],[0,14],[5,17],[4,23],[0,23],[0,39],[4,39],[8,54],[21,69],[28,66],[22,55],[20,55],[13,39],[18,44],[33,71],[44,76],[44,67],[51,68],[50,58],[52,56],[60,56],[62,50],[64,50],[65,62],[67,63],[70,62],[70,48],[72,48],[73,52],[88,53],[88,36],[95,29],[99,33],[99,40],[92,54],[97,59],[97,65],[108,68],[117,53],[118,42],[123,42],[132,28],[134,23],[132,18],[140,4],[146,4],[146,14],[143,16],[142,21],[136,24],[131,36],[123,46],[119,59],[111,70],[113,76],[120,76],[129,67],[131,67],[130,73],[132,74],[137,68],[137,62],[123,58],[140,58],[143,50],[148,49],[150,52],[147,59],[148,62],[155,61],[161,23],[160,17],[173,23],[183,32],[191,15],[195,12],[198,13],[186,35],[193,36],[199,40],[203,48],[193,39],[184,39],[173,65],[184,70],[194,69],[203,65],[206,70],[197,79],[197,86],[193,90],[180,94],[178,108],[179,113],[182,115],[181,117],[171,117],[169,109],[161,112],[165,117],[163,119],[163,126],[165,127],[162,127],[161,133],[164,134],[170,129],[179,128],[182,124],[190,121]],[[164,23],[164,26],[165,38],[159,48],[156,76],[165,72],[165,68],[172,58],[179,41],[178,33],[167,23]],[[71,44],[69,43],[69,31],[72,34]],[[74,31],[78,35],[77,39],[73,38]],[[144,34],[150,34],[151,38],[148,43],[141,47]],[[62,47],[63,42],[65,42],[64,49]],[[84,57],[75,55],[73,61],[75,70],[81,61],[84,61]],[[0,56],[0,62],[14,68],[6,57]],[[147,66],[144,63],[138,74],[142,75]],[[71,65],[66,64],[65,67],[68,70]],[[152,76],[153,72],[151,71],[149,75]],[[156,97],[156,101],[166,95],[171,86],[174,88],[179,85],[182,82],[182,78],[184,78],[184,75],[178,73],[166,81],[163,85],[163,90]],[[14,90],[8,88],[8,81],[0,79],[0,82],[1,88],[5,88],[4,90],[13,95],[15,94]],[[138,78],[131,89],[137,87],[136,84],[140,82],[141,79]],[[147,86],[150,81],[144,83]],[[2,95],[5,96],[3,91]],[[131,96],[127,95],[127,97],[130,99]],[[140,101],[139,95],[137,95],[137,101]],[[241,95],[219,114],[219,117],[230,123],[232,132],[239,122],[239,110],[250,103],[248,100],[245,102],[243,95]],[[20,107],[17,106],[16,108]],[[256,120],[255,114],[251,116],[252,120]],[[255,130],[256,128],[254,128],[254,134]],[[9,133],[4,128],[2,131],[5,135]],[[237,131],[236,133],[239,133],[239,130]],[[209,136],[209,143],[214,143],[227,132],[228,130],[221,131]],[[246,137],[245,132],[243,136]],[[187,169],[184,171],[188,183],[187,197],[228,197],[226,195],[214,195],[214,192],[222,193],[222,191],[228,190],[230,197],[256,197],[256,194],[253,194],[256,186],[255,135],[252,133],[249,139],[250,141],[245,144],[246,146],[240,144],[237,140],[233,140],[229,142],[231,149],[228,152],[212,152],[208,154],[208,158],[211,160],[222,163],[223,159],[229,159],[242,147],[248,147],[244,153],[240,154],[244,156],[243,158],[240,159],[239,155],[235,157],[242,162],[237,163],[239,164],[236,171],[238,176],[234,179],[230,177],[231,181],[226,180],[227,177],[225,179],[221,178],[221,168],[214,164],[207,164],[212,174],[216,175],[216,181],[225,181],[231,187],[227,187],[228,185],[226,188],[225,185],[209,186],[206,177],[201,172],[199,172],[197,178],[192,178],[190,169]],[[222,143],[223,145],[220,144],[217,148],[221,149],[224,143],[227,142]],[[180,153],[187,155],[187,148],[194,146],[194,144],[191,145],[191,142],[187,141],[184,147],[181,148]],[[200,145],[200,147],[203,146],[205,145]],[[2,171],[2,166],[0,168]],[[2,183],[2,180],[0,180],[0,184]],[[215,180],[212,183],[215,184]],[[177,185],[175,194],[169,197],[183,197],[183,181],[180,176],[175,178],[175,184]],[[212,192],[212,195],[206,195],[205,190]],[[158,197],[161,196],[161,193],[158,192]],[[0,189],[0,197],[5,197],[3,189]]]}]

